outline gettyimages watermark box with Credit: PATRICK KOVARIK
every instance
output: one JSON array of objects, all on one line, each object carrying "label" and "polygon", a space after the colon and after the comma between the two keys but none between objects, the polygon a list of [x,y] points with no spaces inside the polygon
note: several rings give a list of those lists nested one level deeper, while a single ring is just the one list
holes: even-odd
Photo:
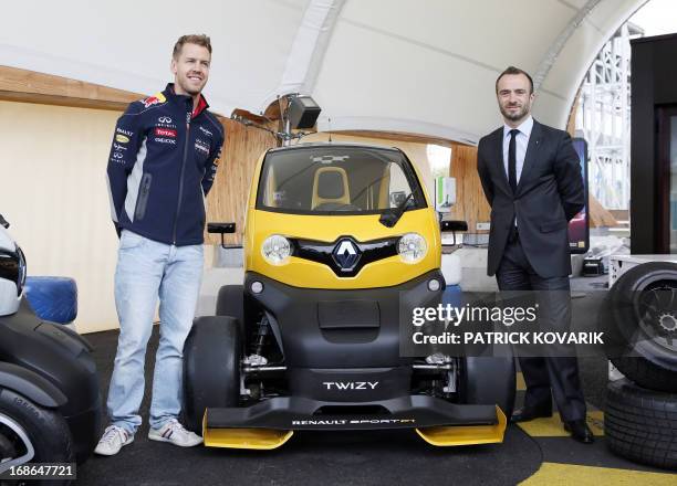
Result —
[{"label": "gettyimages watermark box with Credit: PATRICK KOVARIK", "polygon": [[425,304],[400,302],[402,356],[491,356],[501,346],[520,356],[605,353],[597,313],[572,317],[569,292],[464,294],[456,303]]}]

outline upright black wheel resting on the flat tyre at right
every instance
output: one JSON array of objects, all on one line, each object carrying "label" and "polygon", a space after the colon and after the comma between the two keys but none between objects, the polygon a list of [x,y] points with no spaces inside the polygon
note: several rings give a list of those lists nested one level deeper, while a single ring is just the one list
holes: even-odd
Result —
[{"label": "upright black wheel resting on the flat tyre at right", "polygon": [[610,289],[601,316],[614,366],[642,387],[677,392],[677,264],[628,270]]}]

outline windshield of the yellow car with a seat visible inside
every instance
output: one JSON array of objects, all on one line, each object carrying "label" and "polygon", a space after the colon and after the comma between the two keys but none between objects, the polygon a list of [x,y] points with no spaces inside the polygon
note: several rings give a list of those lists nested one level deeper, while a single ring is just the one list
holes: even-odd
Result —
[{"label": "windshield of the yellow car with a seat visible inside", "polygon": [[257,199],[258,209],[300,214],[381,213],[400,204],[405,210],[426,208],[409,160],[399,150],[377,147],[271,151]]}]

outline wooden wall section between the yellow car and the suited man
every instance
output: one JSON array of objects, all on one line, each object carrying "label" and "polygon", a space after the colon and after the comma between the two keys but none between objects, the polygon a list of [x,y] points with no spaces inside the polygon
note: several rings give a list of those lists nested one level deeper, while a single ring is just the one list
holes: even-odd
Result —
[{"label": "wooden wall section between the yellow car and the suited man", "polygon": [[485,198],[477,175],[477,147],[454,144],[449,176],[456,178],[456,204],[451,208],[451,219],[468,222],[468,233],[477,231],[477,223],[489,221],[491,209]]}]

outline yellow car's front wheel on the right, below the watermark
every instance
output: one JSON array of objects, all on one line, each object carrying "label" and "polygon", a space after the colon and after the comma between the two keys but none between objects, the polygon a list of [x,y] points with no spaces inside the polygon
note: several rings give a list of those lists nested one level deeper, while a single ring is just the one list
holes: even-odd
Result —
[{"label": "yellow car's front wheel on the right, below the watermark", "polygon": [[499,357],[460,360],[459,393],[462,403],[499,405],[510,420],[514,408],[514,358],[509,348]]}]

